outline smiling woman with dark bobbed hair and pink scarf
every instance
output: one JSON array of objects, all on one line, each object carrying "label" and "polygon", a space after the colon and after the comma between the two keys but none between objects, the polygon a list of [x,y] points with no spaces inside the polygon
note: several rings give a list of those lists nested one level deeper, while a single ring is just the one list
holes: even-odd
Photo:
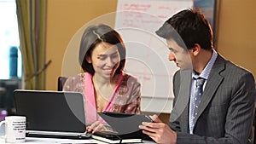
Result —
[{"label": "smiling woman with dark bobbed hair and pink scarf", "polygon": [[123,72],[125,56],[123,40],[111,27],[90,26],[84,31],[79,49],[84,72],[68,78],[63,90],[84,95],[88,131],[106,130],[97,112],[141,113],[141,85]]}]

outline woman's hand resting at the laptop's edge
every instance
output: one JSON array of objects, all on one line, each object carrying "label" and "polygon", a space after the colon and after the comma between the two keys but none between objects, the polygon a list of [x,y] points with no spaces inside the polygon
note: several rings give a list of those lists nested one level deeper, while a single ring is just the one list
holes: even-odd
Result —
[{"label": "woman's hand resting at the laptop's edge", "polygon": [[96,121],[86,128],[87,132],[95,133],[96,131],[113,131],[108,124],[102,124],[100,121]]}]

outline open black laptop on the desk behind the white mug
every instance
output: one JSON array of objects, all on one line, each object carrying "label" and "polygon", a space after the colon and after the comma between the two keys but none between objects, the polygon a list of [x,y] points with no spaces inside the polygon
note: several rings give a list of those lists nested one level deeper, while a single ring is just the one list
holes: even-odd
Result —
[{"label": "open black laptop on the desk behind the white mug", "polygon": [[80,93],[16,89],[14,98],[16,115],[26,116],[26,136],[90,138]]}]

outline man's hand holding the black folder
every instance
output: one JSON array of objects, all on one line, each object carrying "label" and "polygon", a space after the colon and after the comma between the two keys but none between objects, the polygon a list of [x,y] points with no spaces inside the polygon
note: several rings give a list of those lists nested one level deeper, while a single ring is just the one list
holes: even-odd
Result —
[{"label": "man's hand holding the black folder", "polygon": [[169,125],[161,122],[157,115],[151,117],[154,123],[143,122],[139,128],[157,143],[176,144],[177,134]]}]

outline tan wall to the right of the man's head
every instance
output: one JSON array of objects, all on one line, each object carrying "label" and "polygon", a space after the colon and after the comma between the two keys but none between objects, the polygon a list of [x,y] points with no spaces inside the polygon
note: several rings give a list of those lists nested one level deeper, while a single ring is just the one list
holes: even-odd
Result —
[{"label": "tan wall to the right of the man's head", "polygon": [[219,0],[218,52],[256,78],[256,1]]}]

